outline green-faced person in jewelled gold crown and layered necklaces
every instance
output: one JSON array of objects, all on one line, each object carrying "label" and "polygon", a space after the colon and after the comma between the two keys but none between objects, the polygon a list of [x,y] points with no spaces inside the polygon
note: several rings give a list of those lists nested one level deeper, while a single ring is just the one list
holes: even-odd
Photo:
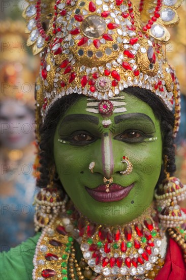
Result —
[{"label": "green-faced person in jewelled gold crown and layered necklaces", "polygon": [[19,257],[4,256],[3,279],[185,278],[185,186],[173,177],[180,92],[160,45],[179,5],[169,18],[166,0],[150,15],[144,2],[57,0],[45,30],[42,2],[26,8],[41,52],[38,233]]}]

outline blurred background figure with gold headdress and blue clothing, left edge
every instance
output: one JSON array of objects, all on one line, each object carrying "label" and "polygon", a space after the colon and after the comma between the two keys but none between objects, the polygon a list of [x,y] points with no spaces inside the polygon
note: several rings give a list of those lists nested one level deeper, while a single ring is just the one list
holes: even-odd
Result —
[{"label": "blurred background figure with gold headdress and blue clothing, left edge", "polygon": [[24,22],[1,22],[1,250],[34,235],[36,69],[28,52]]}]

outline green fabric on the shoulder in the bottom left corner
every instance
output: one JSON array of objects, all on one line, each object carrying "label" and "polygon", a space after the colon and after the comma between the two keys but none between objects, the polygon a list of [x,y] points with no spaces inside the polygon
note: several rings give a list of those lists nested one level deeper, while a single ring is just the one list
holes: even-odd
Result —
[{"label": "green fabric on the shoulder in the bottom left corner", "polygon": [[1,253],[1,280],[32,280],[33,258],[40,235],[37,233],[8,252]]}]

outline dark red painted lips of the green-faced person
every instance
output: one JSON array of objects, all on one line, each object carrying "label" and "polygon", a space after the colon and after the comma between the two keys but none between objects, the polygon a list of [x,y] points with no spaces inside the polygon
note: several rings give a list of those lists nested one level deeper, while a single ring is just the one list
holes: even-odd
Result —
[{"label": "dark red painted lips of the green-faced person", "polygon": [[85,189],[93,199],[99,202],[114,202],[126,198],[133,187],[134,183],[127,187],[111,184],[109,186],[109,192],[106,192],[106,185],[99,185],[94,189],[85,187]]}]

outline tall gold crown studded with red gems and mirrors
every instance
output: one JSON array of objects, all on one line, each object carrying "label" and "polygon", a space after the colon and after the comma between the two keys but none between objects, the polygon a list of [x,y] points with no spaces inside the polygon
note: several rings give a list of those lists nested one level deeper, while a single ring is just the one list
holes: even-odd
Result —
[{"label": "tall gold crown studded with red gems and mirrors", "polygon": [[141,0],[137,8],[130,0],[30,0],[24,11],[28,44],[34,54],[41,52],[38,120],[65,95],[101,101],[139,87],[160,97],[169,110],[174,103],[176,134],[179,84],[162,43],[170,39],[166,26],[179,21],[175,9],[182,2]]}]

